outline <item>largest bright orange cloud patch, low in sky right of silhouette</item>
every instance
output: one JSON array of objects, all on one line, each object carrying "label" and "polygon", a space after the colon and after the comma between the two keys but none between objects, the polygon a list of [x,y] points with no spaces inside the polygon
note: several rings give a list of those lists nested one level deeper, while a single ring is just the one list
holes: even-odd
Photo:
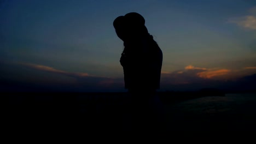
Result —
[{"label": "largest bright orange cloud patch, low in sky right of silhouette", "polygon": [[205,78],[205,79],[211,79],[212,77],[226,75],[229,72],[230,72],[230,70],[228,70],[228,69],[208,70],[208,71],[202,71],[200,73],[197,73],[197,76]]}]

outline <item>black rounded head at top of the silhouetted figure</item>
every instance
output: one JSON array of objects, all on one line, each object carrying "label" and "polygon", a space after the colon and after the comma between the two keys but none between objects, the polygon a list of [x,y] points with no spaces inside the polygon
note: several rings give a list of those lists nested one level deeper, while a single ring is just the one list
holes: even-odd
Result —
[{"label": "black rounded head at top of the silhouetted figure", "polygon": [[113,26],[118,37],[123,41],[138,39],[148,34],[145,19],[142,15],[134,12],[118,16],[114,20]]}]

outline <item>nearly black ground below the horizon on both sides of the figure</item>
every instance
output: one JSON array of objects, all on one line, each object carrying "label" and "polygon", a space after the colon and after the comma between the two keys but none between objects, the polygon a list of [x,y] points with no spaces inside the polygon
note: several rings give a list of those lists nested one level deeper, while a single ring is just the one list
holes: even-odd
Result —
[{"label": "nearly black ground below the horizon on both sides of the figure", "polygon": [[[241,94],[223,97],[198,93],[158,96],[152,99],[153,109],[164,116],[145,122],[149,129],[162,125],[157,130],[256,131],[256,94],[246,98]],[[130,100],[126,93],[9,93],[2,96],[2,119],[11,131],[137,130],[131,122]]]}]

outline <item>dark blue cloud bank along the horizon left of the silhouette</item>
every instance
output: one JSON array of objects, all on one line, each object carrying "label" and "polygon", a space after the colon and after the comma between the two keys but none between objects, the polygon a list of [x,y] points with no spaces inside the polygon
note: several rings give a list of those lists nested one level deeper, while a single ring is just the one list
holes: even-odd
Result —
[{"label": "dark blue cloud bank along the horizon left of the silhouette", "polygon": [[72,73],[31,63],[1,64],[2,92],[117,92],[124,91],[121,79]]}]

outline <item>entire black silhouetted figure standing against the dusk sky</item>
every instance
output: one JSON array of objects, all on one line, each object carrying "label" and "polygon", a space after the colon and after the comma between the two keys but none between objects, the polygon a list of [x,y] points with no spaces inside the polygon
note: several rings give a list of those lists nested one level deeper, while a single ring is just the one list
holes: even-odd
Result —
[{"label": "entire black silhouetted figure standing against the dusk sky", "polygon": [[155,116],[150,118],[152,109],[149,103],[156,97],[156,89],[160,88],[162,51],[148,33],[140,14],[119,16],[113,25],[118,37],[124,41],[120,63],[124,70],[125,88],[131,94],[136,128],[152,127]]}]

